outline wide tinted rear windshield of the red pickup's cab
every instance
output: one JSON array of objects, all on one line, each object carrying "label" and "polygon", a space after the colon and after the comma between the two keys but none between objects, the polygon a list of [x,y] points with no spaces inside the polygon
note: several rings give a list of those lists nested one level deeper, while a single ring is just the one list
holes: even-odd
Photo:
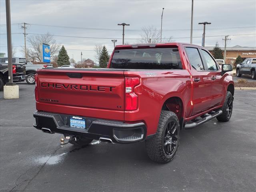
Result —
[{"label": "wide tinted rear windshield of the red pickup's cab", "polygon": [[178,48],[115,50],[110,68],[182,69]]}]

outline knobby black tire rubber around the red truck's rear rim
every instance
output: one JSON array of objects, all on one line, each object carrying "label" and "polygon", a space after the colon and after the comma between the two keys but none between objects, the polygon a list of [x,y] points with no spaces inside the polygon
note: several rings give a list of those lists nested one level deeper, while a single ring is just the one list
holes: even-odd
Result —
[{"label": "knobby black tire rubber around the red truck's rear rim", "polygon": [[[164,149],[164,136],[166,134],[167,126],[170,122],[175,122],[177,125],[177,140],[176,140],[176,148],[174,148],[174,152],[168,155],[166,154]],[[156,134],[152,138],[146,140],[146,151],[147,151],[148,157],[155,162],[168,163],[174,158],[178,150],[179,144],[180,144],[180,123],[179,123],[178,117],[174,112],[162,110],[160,114],[160,119],[158,122],[158,128],[157,128]],[[172,145],[171,145],[171,148],[172,148]]]}]

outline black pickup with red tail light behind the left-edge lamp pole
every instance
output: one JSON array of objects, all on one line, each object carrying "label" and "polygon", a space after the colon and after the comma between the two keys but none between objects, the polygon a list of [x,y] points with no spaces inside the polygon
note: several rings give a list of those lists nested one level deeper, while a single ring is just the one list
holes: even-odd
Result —
[{"label": "black pickup with red tail light behind the left-edge lamp pole", "polygon": [[[26,80],[26,66],[24,63],[16,63],[16,59],[12,58],[12,74],[13,82],[22,82]],[[8,59],[0,58],[0,90],[3,89],[8,82]]]}]

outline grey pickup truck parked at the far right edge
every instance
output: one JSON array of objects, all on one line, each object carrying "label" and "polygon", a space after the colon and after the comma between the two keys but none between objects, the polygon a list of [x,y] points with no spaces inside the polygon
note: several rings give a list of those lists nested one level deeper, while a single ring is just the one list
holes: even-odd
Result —
[{"label": "grey pickup truck parked at the far right edge", "polygon": [[236,76],[251,75],[252,79],[256,79],[256,58],[248,58],[241,64],[236,66]]}]

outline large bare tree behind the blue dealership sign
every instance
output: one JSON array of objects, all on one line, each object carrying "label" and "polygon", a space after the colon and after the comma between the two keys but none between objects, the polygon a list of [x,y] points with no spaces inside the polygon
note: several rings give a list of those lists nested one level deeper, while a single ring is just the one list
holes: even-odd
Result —
[{"label": "large bare tree behind the blue dealership sign", "polygon": [[[50,33],[44,35],[33,35],[28,36],[28,42],[30,43],[30,48],[27,48],[27,56],[29,61],[39,61],[41,62],[41,46],[42,44],[49,44],[50,45],[50,53],[51,56],[54,56],[58,53],[60,49],[60,44],[56,42],[53,36]],[[24,48],[23,48],[23,52]]]}]

